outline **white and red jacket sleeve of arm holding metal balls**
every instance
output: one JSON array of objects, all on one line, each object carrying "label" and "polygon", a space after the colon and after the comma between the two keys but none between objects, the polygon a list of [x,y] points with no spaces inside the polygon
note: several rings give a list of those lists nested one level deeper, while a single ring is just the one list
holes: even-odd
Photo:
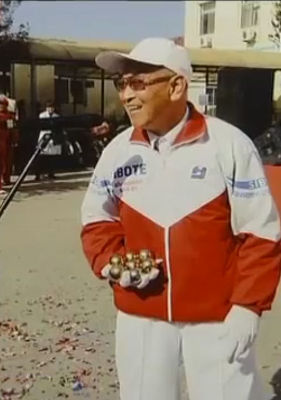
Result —
[{"label": "white and red jacket sleeve of arm holding metal balls", "polygon": [[94,170],[81,207],[83,252],[99,278],[111,255],[124,254],[124,233],[106,150]]}]

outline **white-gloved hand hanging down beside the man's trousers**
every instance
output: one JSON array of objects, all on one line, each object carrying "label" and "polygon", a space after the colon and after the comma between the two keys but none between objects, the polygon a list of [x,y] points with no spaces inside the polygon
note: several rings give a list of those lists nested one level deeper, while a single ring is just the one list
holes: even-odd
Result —
[{"label": "white-gloved hand hanging down beside the man's trousers", "polygon": [[231,364],[238,361],[253,344],[259,326],[259,316],[253,311],[233,305],[225,322],[228,328],[226,356]]}]

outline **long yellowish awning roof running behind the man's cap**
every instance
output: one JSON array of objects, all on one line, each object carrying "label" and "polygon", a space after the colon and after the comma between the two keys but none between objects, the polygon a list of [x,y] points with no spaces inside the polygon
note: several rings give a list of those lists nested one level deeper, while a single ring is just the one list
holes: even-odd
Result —
[{"label": "long yellowish awning roof running behind the man's cap", "polygon": [[[95,56],[105,50],[129,52],[132,43],[114,41],[74,41],[30,38],[25,43],[0,46],[0,60],[17,63],[80,63],[92,65]],[[258,50],[190,48],[191,62],[197,67],[235,67],[281,69],[281,53]]]}]

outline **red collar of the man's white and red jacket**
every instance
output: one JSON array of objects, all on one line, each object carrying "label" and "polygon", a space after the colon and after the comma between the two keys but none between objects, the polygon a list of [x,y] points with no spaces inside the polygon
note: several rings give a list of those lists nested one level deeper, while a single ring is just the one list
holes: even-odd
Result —
[{"label": "red collar of the man's white and red jacket", "polygon": [[[182,130],[179,132],[173,142],[174,145],[181,145],[184,143],[194,142],[201,136],[207,134],[207,127],[204,116],[197,111],[194,105],[188,102],[188,118]],[[145,129],[134,128],[130,137],[131,142],[136,142],[143,145],[149,145],[150,140],[148,133]]]}]

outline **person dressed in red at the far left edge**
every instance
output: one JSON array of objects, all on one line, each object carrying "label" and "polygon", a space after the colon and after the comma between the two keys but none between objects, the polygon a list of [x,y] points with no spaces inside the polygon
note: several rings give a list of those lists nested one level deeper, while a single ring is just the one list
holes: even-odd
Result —
[{"label": "person dressed in red at the far left edge", "polygon": [[2,189],[3,180],[9,183],[10,168],[9,155],[11,146],[11,129],[13,128],[13,113],[8,111],[8,100],[0,96],[0,194],[5,194]]}]

